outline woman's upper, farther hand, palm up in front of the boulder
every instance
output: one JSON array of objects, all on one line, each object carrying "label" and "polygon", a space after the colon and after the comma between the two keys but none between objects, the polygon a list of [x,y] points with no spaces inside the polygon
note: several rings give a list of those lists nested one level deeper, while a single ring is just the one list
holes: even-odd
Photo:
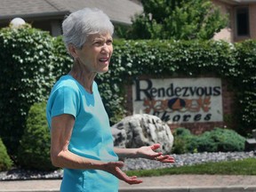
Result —
[{"label": "woman's upper, farther hand, palm up in front of the boulder", "polygon": [[151,146],[138,148],[137,156],[142,158],[148,158],[151,160],[156,160],[162,163],[174,163],[174,158],[172,156],[163,155],[163,153],[158,153],[155,151],[157,148],[160,148],[160,146],[160,144],[156,143]]}]

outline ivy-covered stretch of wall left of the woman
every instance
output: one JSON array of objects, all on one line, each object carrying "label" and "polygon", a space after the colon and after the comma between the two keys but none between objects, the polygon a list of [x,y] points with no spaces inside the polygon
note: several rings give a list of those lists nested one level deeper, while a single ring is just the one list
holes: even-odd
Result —
[{"label": "ivy-covered stretch of wall left of the woman", "polygon": [[0,136],[17,151],[30,106],[45,100],[54,82],[52,36],[36,28],[0,30]]}]

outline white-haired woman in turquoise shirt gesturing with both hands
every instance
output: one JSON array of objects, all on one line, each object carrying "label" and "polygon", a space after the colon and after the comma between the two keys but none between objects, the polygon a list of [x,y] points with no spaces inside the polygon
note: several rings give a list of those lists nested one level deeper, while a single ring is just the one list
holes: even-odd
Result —
[{"label": "white-haired woman in turquoise shirt gesturing with both hands", "polygon": [[52,164],[64,169],[60,191],[118,191],[118,179],[139,184],[120,168],[118,157],[144,157],[172,163],[172,156],[154,150],[159,144],[141,148],[114,148],[108,115],[94,81],[108,71],[113,52],[114,27],[98,9],[71,13],[63,21],[63,38],[74,65],[53,86],[47,102],[51,130]]}]

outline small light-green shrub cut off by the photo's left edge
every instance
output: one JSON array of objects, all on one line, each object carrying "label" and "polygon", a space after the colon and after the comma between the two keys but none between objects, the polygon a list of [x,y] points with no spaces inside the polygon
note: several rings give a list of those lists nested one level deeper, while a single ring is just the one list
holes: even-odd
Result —
[{"label": "small light-green shrub cut off by the photo's left edge", "polygon": [[0,138],[0,172],[8,171],[12,168],[12,160],[7,154],[7,150]]}]

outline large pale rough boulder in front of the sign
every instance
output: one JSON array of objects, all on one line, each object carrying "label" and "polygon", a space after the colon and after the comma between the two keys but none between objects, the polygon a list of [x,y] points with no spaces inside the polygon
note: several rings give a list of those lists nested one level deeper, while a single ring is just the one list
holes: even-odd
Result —
[{"label": "large pale rough boulder in front of the sign", "polygon": [[114,145],[117,148],[140,148],[160,143],[160,150],[170,154],[173,136],[168,124],[159,117],[148,114],[136,114],[125,117],[111,128]]}]

